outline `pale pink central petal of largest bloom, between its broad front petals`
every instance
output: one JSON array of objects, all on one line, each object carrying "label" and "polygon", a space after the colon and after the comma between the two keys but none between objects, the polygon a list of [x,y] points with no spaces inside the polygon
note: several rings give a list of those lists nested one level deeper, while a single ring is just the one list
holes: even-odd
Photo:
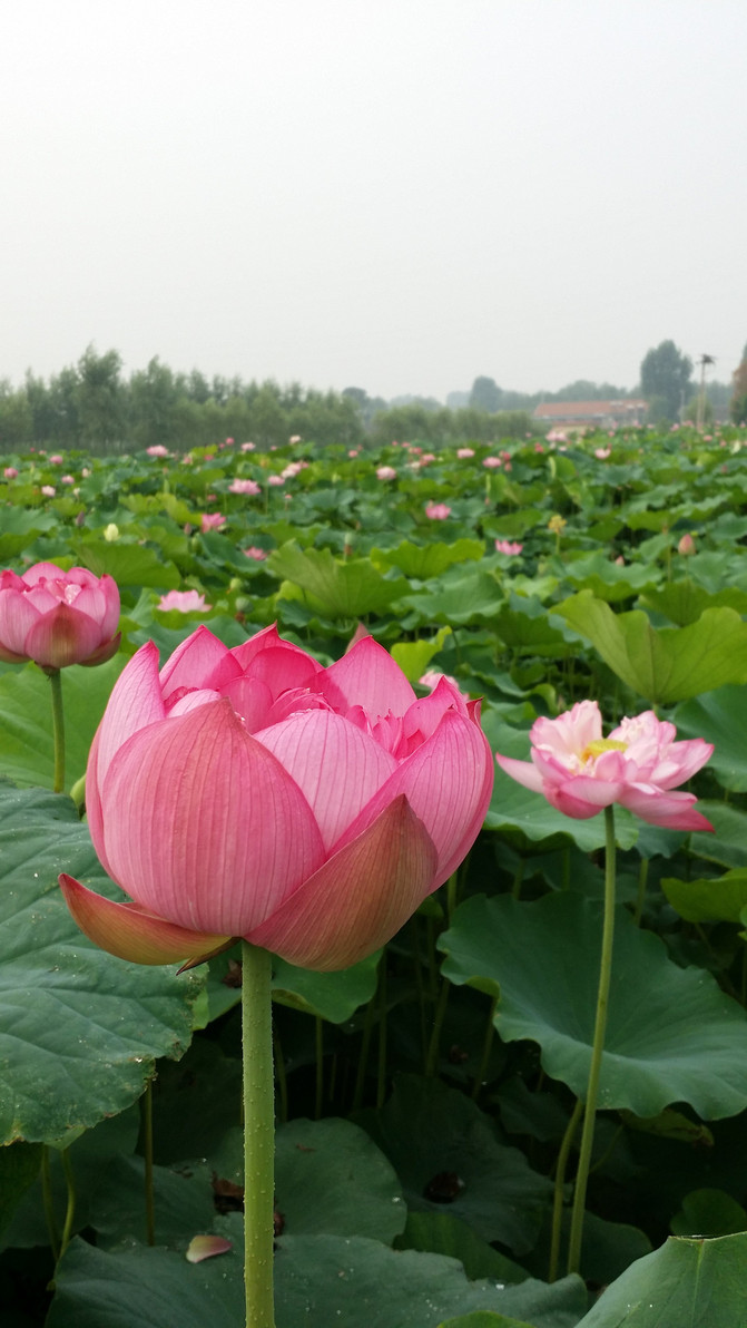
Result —
[{"label": "pale pink central petal of largest bloom, between its broad front petals", "polygon": [[255,736],[305,794],[328,851],[397,769],[389,752],[333,710],[303,710]]}]

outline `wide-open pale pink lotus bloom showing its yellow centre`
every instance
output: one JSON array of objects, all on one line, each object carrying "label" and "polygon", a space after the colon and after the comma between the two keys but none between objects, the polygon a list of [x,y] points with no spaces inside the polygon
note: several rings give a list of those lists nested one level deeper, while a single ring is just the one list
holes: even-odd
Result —
[{"label": "wide-open pale pink lotus bloom showing its yellow centre", "polygon": [[584,821],[620,802],[642,821],[669,830],[713,830],[693,793],[671,793],[713,754],[703,738],[675,742],[674,724],[653,710],[624,718],[608,738],[596,701],[578,701],[556,720],[532,725],[532,760],[496,754],[502,770],[543,793],[567,817]]}]

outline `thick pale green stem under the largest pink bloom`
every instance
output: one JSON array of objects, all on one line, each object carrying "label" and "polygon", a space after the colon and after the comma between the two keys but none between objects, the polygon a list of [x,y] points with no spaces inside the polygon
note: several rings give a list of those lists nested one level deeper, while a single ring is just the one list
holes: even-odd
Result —
[{"label": "thick pale green stem under the largest pink bloom", "polygon": [[271,956],[241,942],[244,1289],[247,1328],[275,1328],[275,1121]]}]

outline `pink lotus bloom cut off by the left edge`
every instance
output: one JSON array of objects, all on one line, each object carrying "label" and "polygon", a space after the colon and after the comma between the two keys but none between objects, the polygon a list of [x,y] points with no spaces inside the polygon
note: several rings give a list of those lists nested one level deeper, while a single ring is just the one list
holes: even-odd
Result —
[{"label": "pink lotus bloom cut off by the left edge", "polygon": [[0,660],[8,664],[102,664],[119,647],[118,622],[111,576],[85,567],[64,572],[54,563],[34,563],[23,576],[0,572]]}]

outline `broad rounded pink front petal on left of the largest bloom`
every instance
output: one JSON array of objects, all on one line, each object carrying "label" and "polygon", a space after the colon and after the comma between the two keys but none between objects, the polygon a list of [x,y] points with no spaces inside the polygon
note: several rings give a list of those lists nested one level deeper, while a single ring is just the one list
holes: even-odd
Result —
[{"label": "broad rounded pink front petal on left of the largest bloom", "polygon": [[195,931],[244,935],[324,861],[301,790],[227,700],[135,733],[101,801],[114,879]]}]

